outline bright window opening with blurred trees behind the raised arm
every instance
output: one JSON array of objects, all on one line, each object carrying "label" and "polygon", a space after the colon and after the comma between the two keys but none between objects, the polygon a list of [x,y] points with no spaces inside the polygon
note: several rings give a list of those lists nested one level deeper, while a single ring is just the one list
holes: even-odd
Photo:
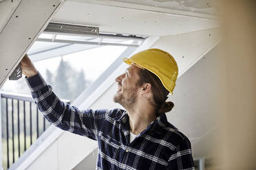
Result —
[{"label": "bright window opening with blurred trees behind the raised arm", "polygon": [[[113,62],[128,57],[143,40],[142,37],[114,34],[78,36],[43,33],[28,51],[28,56],[45,81],[53,87],[54,93],[72,102],[92,86]],[[122,56],[124,52],[125,56]],[[1,90],[30,94],[24,79],[8,80]]]}]

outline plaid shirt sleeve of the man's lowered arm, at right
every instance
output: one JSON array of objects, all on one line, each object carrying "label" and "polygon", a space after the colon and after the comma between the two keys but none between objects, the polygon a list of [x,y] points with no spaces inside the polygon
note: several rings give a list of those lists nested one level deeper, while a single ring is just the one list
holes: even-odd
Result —
[{"label": "plaid shirt sleeve of the man's lowered arm, at right", "polygon": [[184,140],[176,146],[174,153],[169,158],[168,169],[195,170],[191,143],[188,138],[184,138]]}]

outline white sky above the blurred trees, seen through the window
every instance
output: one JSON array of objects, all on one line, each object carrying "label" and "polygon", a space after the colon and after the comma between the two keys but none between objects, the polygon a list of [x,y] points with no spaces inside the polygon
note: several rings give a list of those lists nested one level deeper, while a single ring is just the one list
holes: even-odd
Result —
[{"label": "white sky above the blurred trees, seen through the window", "polygon": [[[69,62],[76,71],[83,69],[86,79],[94,81],[125,49],[127,47],[103,46],[68,54],[63,56],[63,60]],[[61,56],[35,62],[34,65],[44,77],[46,68],[54,73],[60,61]]]}]

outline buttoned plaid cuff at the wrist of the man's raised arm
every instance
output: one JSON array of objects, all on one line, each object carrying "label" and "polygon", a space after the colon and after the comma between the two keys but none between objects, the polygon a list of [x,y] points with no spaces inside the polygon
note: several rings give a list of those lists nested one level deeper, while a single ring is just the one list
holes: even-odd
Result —
[{"label": "buttoned plaid cuff at the wrist of the man's raised arm", "polygon": [[45,82],[39,71],[37,71],[36,75],[33,75],[32,77],[25,76],[25,81],[28,83],[28,86],[30,86],[30,90],[32,92],[40,90],[44,86],[47,86],[47,83]]}]

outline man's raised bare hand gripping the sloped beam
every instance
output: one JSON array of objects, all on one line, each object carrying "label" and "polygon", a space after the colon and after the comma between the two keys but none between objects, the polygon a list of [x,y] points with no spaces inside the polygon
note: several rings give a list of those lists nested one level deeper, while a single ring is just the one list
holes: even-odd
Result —
[{"label": "man's raised bare hand gripping the sloped beam", "polygon": [[25,54],[25,56],[21,60],[21,68],[22,68],[23,75],[27,77],[32,77],[37,73],[37,70],[34,67],[34,64],[31,62],[30,58],[28,58],[27,54]]}]

